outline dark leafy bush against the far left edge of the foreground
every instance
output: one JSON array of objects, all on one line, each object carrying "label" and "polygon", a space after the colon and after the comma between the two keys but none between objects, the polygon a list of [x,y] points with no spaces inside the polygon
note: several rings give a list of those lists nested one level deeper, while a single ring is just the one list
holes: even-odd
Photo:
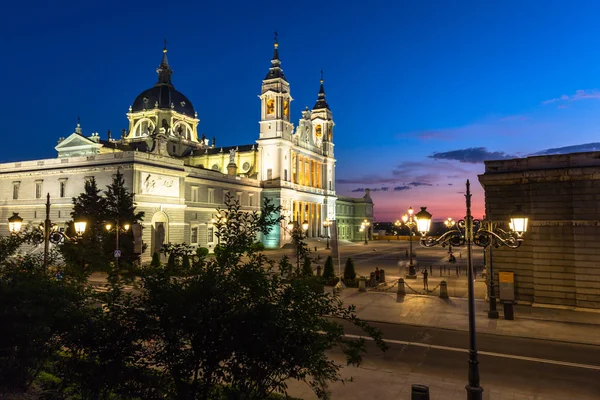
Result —
[{"label": "dark leafy bush against the far left edge of the foreground", "polygon": [[80,285],[46,274],[35,257],[2,260],[0,393],[26,392],[85,308]]}]

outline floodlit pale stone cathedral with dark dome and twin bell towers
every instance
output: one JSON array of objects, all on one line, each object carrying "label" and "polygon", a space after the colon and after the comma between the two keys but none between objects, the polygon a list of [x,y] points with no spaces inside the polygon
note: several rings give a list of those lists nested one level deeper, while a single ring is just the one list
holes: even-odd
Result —
[{"label": "floodlit pale stone cathedral with dark dome and twin bell towers", "polygon": [[[110,131],[105,139],[86,136],[78,121],[75,132],[59,139],[56,158],[0,164],[0,234],[8,233],[14,212],[25,224],[39,225],[47,193],[50,219],[64,226],[84,182],[94,177],[104,189],[117,171],[145,212],[143,261],[167,242],[214,248],[212,221],[227,196],[249,212],[270,199],[285,221],[306,221],[309,238],[333,236],[333,228],[339,239],[359,240],[361,223],[367,219],[372,226],[368,191],[360,198],[336,194],[335,123],[322,77],[314,107],[294,126],[277,40],[260,90],[258,139],[250,144],[217,147],[215,138],[198,137],[198,113],[173,85],[166,44],[157,74],[154,86],[129,107],[129,128],[119,139]],[[327,220],[336,223],[329,228]],[[289,242],[287,223],[260,240],[267,248]]]}]

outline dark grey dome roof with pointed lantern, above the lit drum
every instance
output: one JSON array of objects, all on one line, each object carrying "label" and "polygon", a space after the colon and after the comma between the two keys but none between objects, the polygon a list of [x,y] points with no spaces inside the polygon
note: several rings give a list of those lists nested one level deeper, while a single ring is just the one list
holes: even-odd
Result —
[{"label": "dark grey dome roof with pointed lantern, above the lit drum", "polygon": [[156,72],[158,73],[158,82],[154,87],[144,90],[135,98],[131,105],[131,112],[152,110],[154,108],[171,109],[194,118],[196,112],[194,106],[192,106],[192,102],[181,92],[175,90],[175,87],[171,83],[173,70],[167,60],[166,41],[165,48],[163,49],[163,59]]}]

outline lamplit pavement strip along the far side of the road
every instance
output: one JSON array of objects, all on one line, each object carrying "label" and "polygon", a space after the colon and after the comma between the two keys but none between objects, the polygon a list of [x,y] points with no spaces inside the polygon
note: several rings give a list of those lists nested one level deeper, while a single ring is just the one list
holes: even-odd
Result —
[{"label": "lamplit pavement strip along the far side of the road", "polygon": [[[389,280],[390,286],[393,282]],[[390,291],[370,290],[366,293],[345,288],[340,299],[346,304],[354,304],[357,315],[369,321],[469,330],[466,298],[441,299],[436,292],[407,294],[397,300],[396,287],[393,287]],[[515,305],[514,320],[505,320],[502,304],[498,303],[497,308],[500,318],[489,319],[489,303],[475,300],[477,333],[600,346],[600,313]]]}]

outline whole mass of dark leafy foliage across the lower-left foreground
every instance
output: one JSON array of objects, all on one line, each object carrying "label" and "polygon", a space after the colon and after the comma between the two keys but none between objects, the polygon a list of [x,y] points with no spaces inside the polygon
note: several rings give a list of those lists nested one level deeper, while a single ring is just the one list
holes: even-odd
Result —
[{"label": "whole mass of dark leafy foliage across the lower-left foreground", "polygon": [[[29,381],[45,366],[54,377],[45,380],[46,398],[215,399],[225,390],[232,392],[228,398],[265,399],[286,394],[286,383],[295,379],[326,398],[327,383],[341,379],[341,365],[328,351],[342,349],[353,365],[365,351],[365,341],[346,338],[337,321],[362,328],[381,349],[385,344],[314,277],[284,280],[257,251],[256,237],[279,222],[277,211],[265,202],[260,213],[246,213],[229,200],[219,210],[227,222],[216,224],[221,244],[215,257],[189,258],[183,268],[188,252],[180,248],[181,257],[145,270],[135,292],[124,291],[118,277],[105,292],[72,292],[60,286],[70,284],[32,272],[31,285],[40,289],[16,293],[19,301],[9,303],[15,315],[31,313],[27,307],[46,310],[33,294],[48,287],[73,295],[53,294],[60,301],[51,306],[64,320],[42,319],[29,336],[51,344],[35,350]],[[17,278],[30,282],[19,271]],[[61,314],[61,307],[72,312]],[[18,320],[4,319],[14,324],[7,329],[12,336]]]}]

